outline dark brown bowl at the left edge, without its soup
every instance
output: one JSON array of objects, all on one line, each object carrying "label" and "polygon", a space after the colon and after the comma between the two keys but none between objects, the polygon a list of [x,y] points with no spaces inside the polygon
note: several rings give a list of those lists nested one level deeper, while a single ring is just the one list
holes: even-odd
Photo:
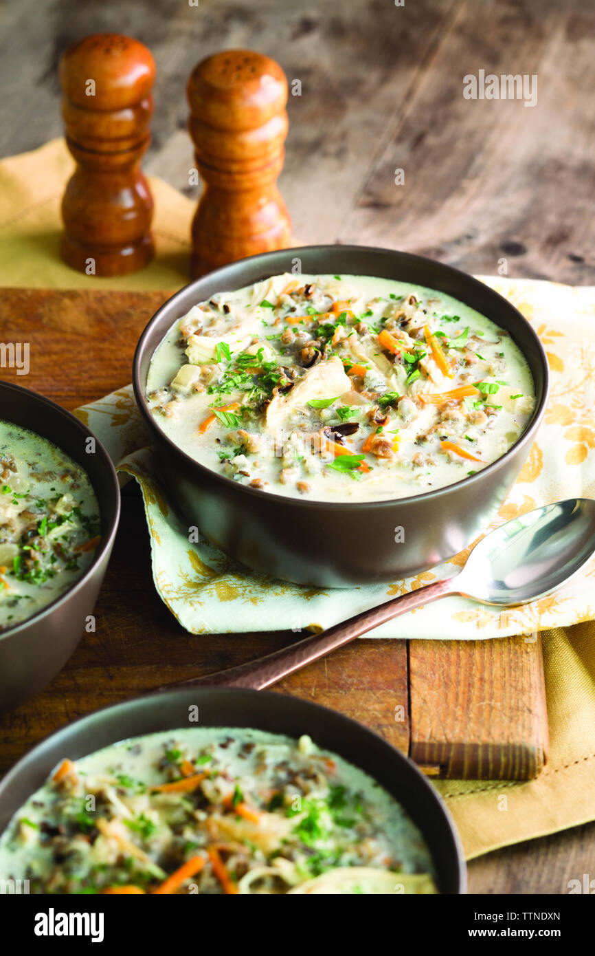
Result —
[{"label": "dark brown bowl at the left edge, without its soup", "polygon": [[85,451],[85,441],[93,432],[49,399],[0,381],[0,418],[41,435],[85,469],[96,493],[102,537],[93,563],[68,591],[0,633],[0,711],[5,711],[49,684],[80,641],[112,553],[119,488],[103,445],[96,439],[95,454]]}]

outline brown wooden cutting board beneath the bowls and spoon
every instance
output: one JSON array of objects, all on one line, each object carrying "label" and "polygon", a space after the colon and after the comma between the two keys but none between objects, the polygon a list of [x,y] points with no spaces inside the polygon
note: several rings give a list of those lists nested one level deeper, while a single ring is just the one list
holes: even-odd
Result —
[{"label": "brown wooden cutting board beneath the bowls and spoon", "polygon": [[[131,380],[138,336],[167,297],[2,290],[0,342],[29,342],[31,367],[27,376],[10,367],[0,375],[70,409],[91,402]],[[138,491],[128,486],[123,497],[117,544],[96,606],[96,633],[85,635],[42,693],[0,719],[0,772],[42,737],[98,706],[297,640],[281,630],[188,635],[153,586]],[[434,776],[528,779],[546,759],[539,636],[355,641],[275,689],[361,721]]]}]

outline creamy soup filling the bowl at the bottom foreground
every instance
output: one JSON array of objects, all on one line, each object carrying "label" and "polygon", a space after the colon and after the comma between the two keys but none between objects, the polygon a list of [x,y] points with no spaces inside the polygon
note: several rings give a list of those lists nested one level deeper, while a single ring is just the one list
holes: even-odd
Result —
[{"label": "creamy soup filling the bowl at the bottom foreground", "polygon": [[309,737],[186,728],[65,760],[0,838],[32,893],[436,893],[413,821]]}]

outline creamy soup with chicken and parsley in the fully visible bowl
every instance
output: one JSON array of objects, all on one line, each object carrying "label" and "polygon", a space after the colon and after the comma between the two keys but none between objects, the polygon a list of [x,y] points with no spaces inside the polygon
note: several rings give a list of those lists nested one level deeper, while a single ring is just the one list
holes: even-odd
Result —
[{"label": "creamy soup with chicken and parsley in the fully visible bowl", "polygon": [[147,398],[202,465],[264,493],[349,502],[421,494],[496,461],[535,388],[508,333],[457,299],[284,274],[177,321]]}]

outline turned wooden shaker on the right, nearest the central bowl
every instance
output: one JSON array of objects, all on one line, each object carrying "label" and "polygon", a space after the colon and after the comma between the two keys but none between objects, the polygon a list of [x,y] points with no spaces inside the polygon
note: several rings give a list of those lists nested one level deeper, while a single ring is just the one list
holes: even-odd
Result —
[{"label": "turned wooden shaker on the right, nearest the central bowl", "polygon": [[287,79],[251,50],[208,56],[188,82],[189,131],[204,183],[192,223],[192,274],[291,245],[277,177],[287,137]]}]

